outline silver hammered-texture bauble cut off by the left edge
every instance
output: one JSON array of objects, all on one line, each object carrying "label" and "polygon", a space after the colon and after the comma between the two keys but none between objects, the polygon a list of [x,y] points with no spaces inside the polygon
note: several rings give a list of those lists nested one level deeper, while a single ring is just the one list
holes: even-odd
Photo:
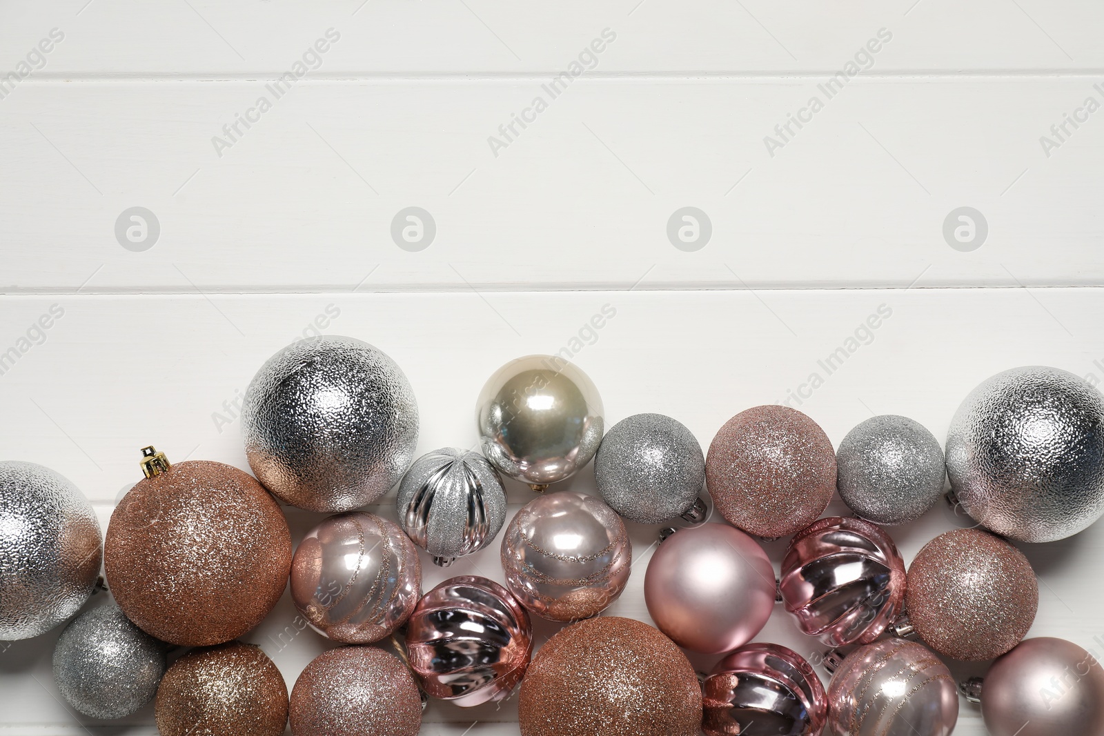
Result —
[{"label": "silver hammered-texture bauble cut off by the left edge", "polygon": [[88,600],[103,561],[92,504],[33,462],[0,462],[0,640],[29,639]]}]

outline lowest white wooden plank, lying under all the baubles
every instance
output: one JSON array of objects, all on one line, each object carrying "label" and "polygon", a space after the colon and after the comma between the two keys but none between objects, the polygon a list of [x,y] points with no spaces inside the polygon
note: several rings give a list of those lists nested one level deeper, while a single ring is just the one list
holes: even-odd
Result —
[{"label": "lowest white wooden plank, lying under all the baubles", "polygon": [[[583,328],[607,305],[615,314],[592,335]],[[511,358],[562,349],[598,385],[611,422],[637,412],[667,413],[703,446],[731,415],[785,401],[790,392],[808,396],[790,403],[837,445],[871,413],[911,416],[942,437],[966,393],[999,370],[1044,363],[1104,380],[1102,307],[1101,288],[3,297],[0,350],[19,349],[21,339],[29,346],[0,375],[0,457],[61,471],[96,502],[106,525],[115,501],[137,480],[144,445],[156,442],[178,459],[245,467],[235,397],[274,350],[315,332],[365,339],[403,366],[421,407],[420,451],[473,445],[471,409],[484,380]],[[859,330],[879,308],[889,313],[879,328]],[[51,316],[44,337],[29,333],[43,314]],[[857,346],[847,361],[821,375],[814,391],[803,387],[813,372],[824,373],[818,359],[850,345],[849,339]],[[566,486],[594,492],[591,470]],[[511,513],[532,498],[517,483],[509,497]],[[393,518],[391,503],[385,499],[378,510]],[[836,502],[830,511],[845,509]],[[296,538],[322,518],[295,510],[288,515]],[[892,534],[911,559],[956,523],[940,506]],[[633,525],[630,533],[635,573],[609,614],[648,620],[640,586],[656,529]],[[776,568],[784,545],[766,545]],[[1101,593],[1083,582],[1104,554],[1104,525],[1023,550],[1044,583],[1032,636],[1093,647]],[[492,544],[448,574],[501,580],[497,556]],[[428,564],[426,570],[426,586],[445,577]],[[289,684],[325,647],[309,631],[287,634],[294,620],[285,599],[248,637],[274,657]],[[552,631],[538,626],[541,638]],[[0,654],[0,734],[84,733],[50,696],[55,637],[15,643]],[[820,651],[781,609],[760,639],[806,655]],[[713,660],[693,657],[700,669]],[[953,669],[957,676],[984,671]],[[424,733],[459,736],[475,721],[470,733],[516,733],[513,707],[434,704]],[[132,727],[124,733],[152,733],[148,708],[127,723]],[[86,725],[107,733],[103,724]],[[985,733],[976,708],[963,706],[956,733]]]}]

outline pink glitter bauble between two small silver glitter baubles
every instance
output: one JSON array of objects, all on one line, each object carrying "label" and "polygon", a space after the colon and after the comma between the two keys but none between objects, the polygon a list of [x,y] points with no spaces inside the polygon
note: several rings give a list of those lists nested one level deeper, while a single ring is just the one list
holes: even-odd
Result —
[{"label": "pink glitter bauble between two small silver glitter baubles", "polygon": [[815,521],[836,492],[836,451],[820,426],[788,406],[729,419],[705,458],[709,493],[734,526],[763,537]]}]

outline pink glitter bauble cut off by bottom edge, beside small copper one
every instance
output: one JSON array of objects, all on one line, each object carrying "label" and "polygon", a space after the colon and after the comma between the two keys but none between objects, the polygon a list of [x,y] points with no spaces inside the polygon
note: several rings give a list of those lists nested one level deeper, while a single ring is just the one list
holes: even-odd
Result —
[{"label": "pink glitter bauble cut off by bottom edge, beside small copper one", "polygon": [[417,736],[422,697],[393,654],[339,647],[307,665],[291,689],[291,736]]}]

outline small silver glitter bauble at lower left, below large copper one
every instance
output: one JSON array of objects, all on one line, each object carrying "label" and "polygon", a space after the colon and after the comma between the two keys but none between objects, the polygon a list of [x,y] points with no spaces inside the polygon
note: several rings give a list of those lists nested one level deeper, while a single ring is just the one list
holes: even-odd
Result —
[{"label": "small silver glitter bauble at lower left, below large copper one", "polygon": [[112,601],[74,619],[54,647],[54,682],[65,702],[94,718],[121,718],[157,695],[167,646]]}]

